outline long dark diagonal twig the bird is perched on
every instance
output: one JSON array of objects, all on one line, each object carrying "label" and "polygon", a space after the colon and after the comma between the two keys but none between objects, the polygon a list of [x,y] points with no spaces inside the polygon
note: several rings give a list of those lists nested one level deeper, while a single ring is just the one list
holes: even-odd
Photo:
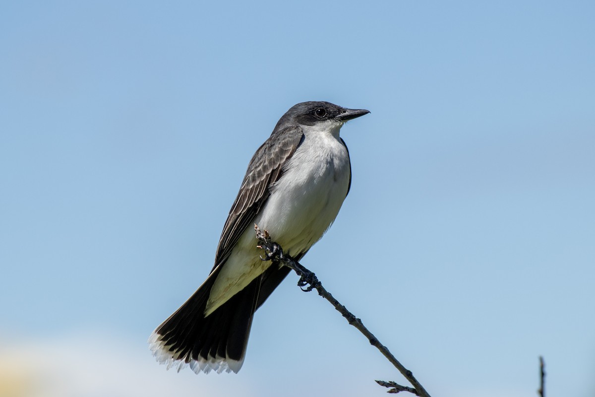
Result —
[{"label": "long dark diagonal twig the bird is perched on", "polygon": [[380,343],[378,339],[376,339],[376,337],[372,335],[371,332],[369,332],[369,330],[362,323],[362,320],[355,317],[355,315],[348,311],[345,306],[340,304],[337,299],[333,298],[333,295],[324,289],[322,283],[318,281],[318,278],[314,273],[300,265],[297,261],[293,260],[293,258],[289,257],[289,255],[284,255],[281,246],[275,242],[271,242],[271,236],[268,234],[267,230],[261,231],[261,229],[256,224],[254,225],[254,230],[256,232],[256,238],[259,241],[258,248],[262,248],[265,251],[265,257],[261,257],[262,260],[272,260],[292,268],[292,270],[295,271],[298,276],[300,276],[297,285],[302,288],[303,291],[309,292],[312,289],[316,289],[318,291],[318,295],[331,302],[334,308],[347,319],[347,322],[356,327],[359,332],[364,334],[364,336],[368,338],[370,344],[375,346],[375,348],[377,348],[414,387],[401,386],[394,382],[383,382],[381,380],[376,381],[378,385],[392,387],[392,389],[388,390],[389,393],[410,392],[420,397],[430,397],[428,392],[425,391],[424,387],[421,386],[417,379],[415,379],[413,373],[407,368],[403,367],[403,365],[392,355],[389,349],[387,349],[386,346]]}]

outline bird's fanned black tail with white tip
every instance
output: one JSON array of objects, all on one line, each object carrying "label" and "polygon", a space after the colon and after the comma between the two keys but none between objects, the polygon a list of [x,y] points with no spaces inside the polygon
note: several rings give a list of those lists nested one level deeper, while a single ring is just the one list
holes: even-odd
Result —
[{"label": "bird's fanned black tail with white tip", "polygon": [[242,368],[254,312],[284,279],[289,268],[271,266],[205,317],[218,269],[149,338],[153,355],[167,369],[189,365],[195,373]]}]

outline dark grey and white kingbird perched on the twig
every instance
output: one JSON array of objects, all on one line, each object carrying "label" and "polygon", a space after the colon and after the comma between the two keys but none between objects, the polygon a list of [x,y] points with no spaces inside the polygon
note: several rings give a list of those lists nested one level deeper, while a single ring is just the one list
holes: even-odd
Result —
[{"label": "dark grey and white kingbird perched on the twig", "polygon": [[211,273],[149,338],[167,368],[240,370],[252,317],[289,273],[261,260],[254,224],[300,260],[337,217],[351,186],[339,130],[369,113],[329,102],[290,108],[256,151],[231,206]]}]

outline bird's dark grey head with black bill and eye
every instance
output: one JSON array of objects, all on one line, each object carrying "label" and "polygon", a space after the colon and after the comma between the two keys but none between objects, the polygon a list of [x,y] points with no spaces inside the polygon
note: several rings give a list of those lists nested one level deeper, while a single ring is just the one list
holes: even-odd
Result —
[{"label": "bird's dark grey head with black bill and eye", "polygon": [[340,127],[347,120],[368,114],[364,109],[346,109],[330,102],[302,102],[293,105],[290,110],[280,118],[275,127],[285,126],[315,126],[317,124],[336,124]]}]

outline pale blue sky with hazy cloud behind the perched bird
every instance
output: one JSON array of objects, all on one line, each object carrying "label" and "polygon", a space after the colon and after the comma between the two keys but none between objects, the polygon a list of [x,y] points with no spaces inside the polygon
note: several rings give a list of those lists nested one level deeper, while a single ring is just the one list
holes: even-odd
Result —
[{"label": "pale blue sky with hazy cloud behind the perched bird", "polygon": [[371,114],[342,129],[352,188],[303,264],[432,395],[534,395],[543,355],[548,395],[593,396],[593,20],[588,1],[3,4],[0,387],[405,383],[293,278],[237,375],[146,346],[211,269],[255,149],[325,100]]}]

